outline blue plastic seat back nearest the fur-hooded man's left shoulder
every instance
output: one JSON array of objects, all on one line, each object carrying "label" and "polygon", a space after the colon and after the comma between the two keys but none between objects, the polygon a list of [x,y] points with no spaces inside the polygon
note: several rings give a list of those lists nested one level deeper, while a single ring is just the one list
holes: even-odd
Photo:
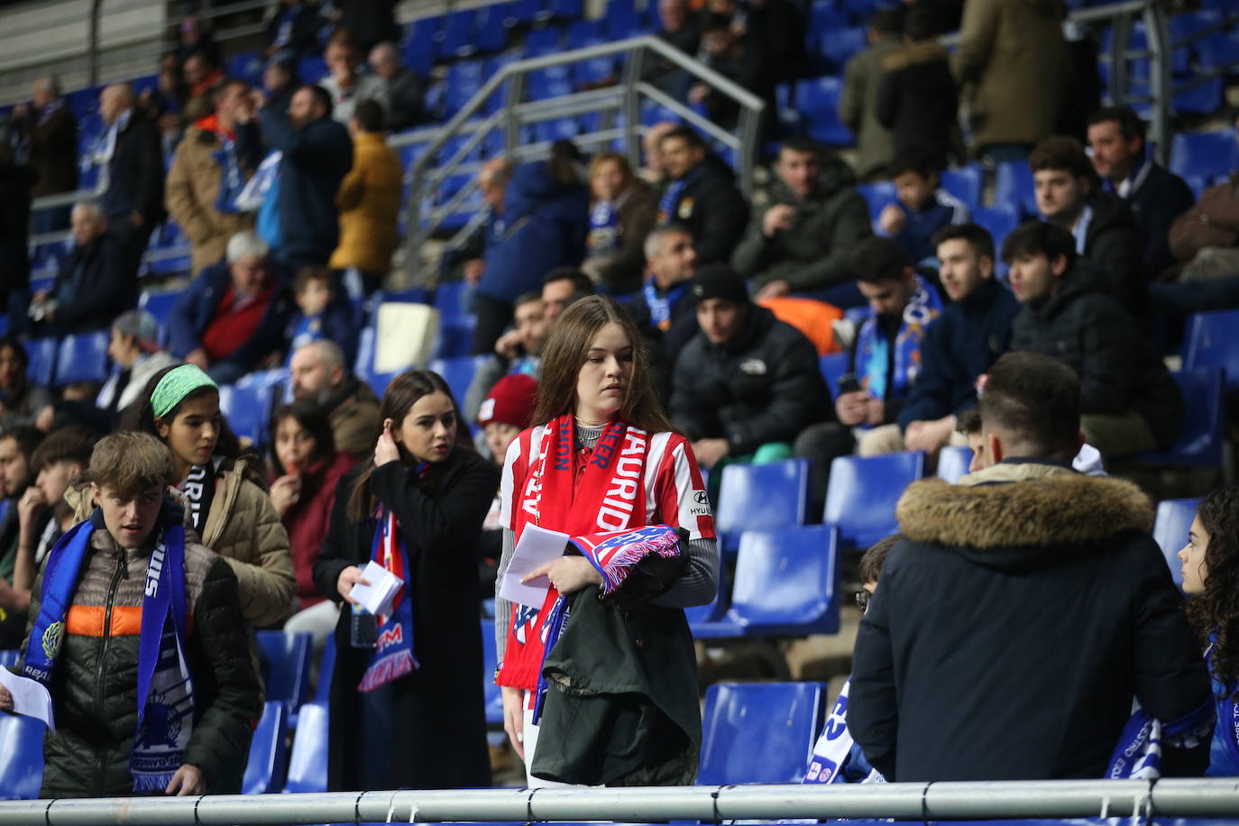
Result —
[{"label": "blue plastic seat back nearest the fur-hooded man's left shoulder", "polygon": [[821,521],[839,529],[843,547],[869,547],[898,530],[895,504],[924,476],[921,451],[887,456],[840,456],[830,464]]}]

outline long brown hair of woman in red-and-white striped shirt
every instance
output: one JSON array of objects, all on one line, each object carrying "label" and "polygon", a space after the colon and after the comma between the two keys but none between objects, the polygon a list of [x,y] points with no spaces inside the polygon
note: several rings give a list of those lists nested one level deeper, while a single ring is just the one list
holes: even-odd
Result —
[{"label": "long brown hair of woman in red-and-white striped shirt", "polygon": [[632,368],[623,390],[623,406],[616,417],[649,433],[674,430],[658,402],[649,380],[649,355],[632,318],[607,296],[589,296],[574,302],[551,324],[543,347],[541,383],[538,385],[535,425],[576,410],[576,379],[590,354],[593,339],[608,323],[620,324],[632,344]]}]

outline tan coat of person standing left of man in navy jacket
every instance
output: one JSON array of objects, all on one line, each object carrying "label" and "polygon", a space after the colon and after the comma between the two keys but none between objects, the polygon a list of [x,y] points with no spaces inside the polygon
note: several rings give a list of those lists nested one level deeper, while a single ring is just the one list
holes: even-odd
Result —
[{"label": "tan coat of person standing left of man in navy jacket", "polygon": [[193,246],[193,274],[218,263],[234,233],[254,227],[250,214],[216,211],[222,170],[214,159],[219,139],[191,126],[176,147],[172,167],[164,181],[169,215]]}]

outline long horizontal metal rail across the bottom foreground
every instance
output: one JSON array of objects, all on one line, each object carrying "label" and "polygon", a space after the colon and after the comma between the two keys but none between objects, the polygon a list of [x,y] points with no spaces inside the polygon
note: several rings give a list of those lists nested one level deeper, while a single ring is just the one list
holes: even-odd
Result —
[{"label": "long horizontal metal rail across the bottom foreground", "polygon": [[0,826],[1237,817],[1234,779],[479,789],[0,802]]}]

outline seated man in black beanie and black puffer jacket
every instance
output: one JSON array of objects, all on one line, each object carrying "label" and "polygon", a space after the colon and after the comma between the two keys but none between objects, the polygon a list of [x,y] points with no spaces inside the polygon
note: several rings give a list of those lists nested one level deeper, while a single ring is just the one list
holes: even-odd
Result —
[{"label": "seated man in black beanie and black puffer jacket", "polygon": [[672,421],[706,468],[724,458],[789,458],[787,443],[831,410],[818,352],[800,331],[753,306],[743,279],[725,264],[701,267],[693,295],[701,331],[675,359]]}]

